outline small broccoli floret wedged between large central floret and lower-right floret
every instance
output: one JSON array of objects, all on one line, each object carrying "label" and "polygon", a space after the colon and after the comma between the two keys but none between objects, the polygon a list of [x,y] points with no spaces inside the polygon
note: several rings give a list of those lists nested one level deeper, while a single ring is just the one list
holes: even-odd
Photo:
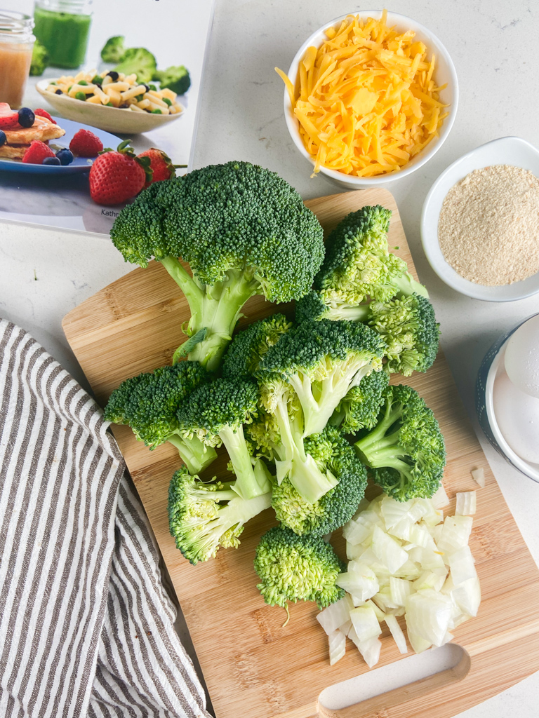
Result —
[{"label": "small broccoli floret wedged between large central floret and lower-right floret", "polygon": [[359,429],[374,428],[384,404],[384,389],[389,383],[389,375],[384,371],[373,371],[364,376],[337,406],[331,424],[340,426],[345,434],[357,434]]}]

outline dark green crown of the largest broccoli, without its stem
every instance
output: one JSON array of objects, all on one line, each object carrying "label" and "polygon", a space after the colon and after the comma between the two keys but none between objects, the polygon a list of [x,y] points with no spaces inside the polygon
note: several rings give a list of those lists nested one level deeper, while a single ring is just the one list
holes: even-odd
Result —
[{"label": "dark green crown of the largest broccoli, without its stem", "polygon": [[270,301],[303,297],[323,258],[322,228],[275,172],[249,162],[155,182],[121,211],[111,238],[126,261],[181,257],[203,284],[252,271]]}]

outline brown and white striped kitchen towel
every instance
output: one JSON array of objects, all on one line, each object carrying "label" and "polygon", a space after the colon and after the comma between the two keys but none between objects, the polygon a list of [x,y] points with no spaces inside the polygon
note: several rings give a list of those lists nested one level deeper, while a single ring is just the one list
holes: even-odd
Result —
[{"label": "brown and white striped kitchen towel", "polygon": [[0,716],[209,718],[91,396],[0,320]]}]

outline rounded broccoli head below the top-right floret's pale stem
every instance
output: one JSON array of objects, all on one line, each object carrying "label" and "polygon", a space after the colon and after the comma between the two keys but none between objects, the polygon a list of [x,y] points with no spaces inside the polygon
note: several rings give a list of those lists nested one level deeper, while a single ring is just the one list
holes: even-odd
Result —
[{"label": "rounded broccoli head below the top-right floret's pale stem", "polygon": [[440,325],[433,305],[420,294],[369,304],[369,325],[387,343],[386,369],[410,376],[426,371],[438,353]]}]

